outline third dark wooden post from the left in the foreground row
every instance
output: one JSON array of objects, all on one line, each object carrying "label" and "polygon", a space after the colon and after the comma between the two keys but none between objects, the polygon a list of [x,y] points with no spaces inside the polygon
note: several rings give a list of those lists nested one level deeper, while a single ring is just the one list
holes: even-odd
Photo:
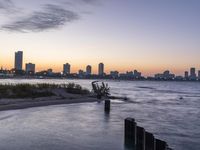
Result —
[{"label": "third dark wooden post from the left in the foreground row", "polygon": [[152,133],[145,132],[145,147],[146,147],[146,150],[156,150],[155,138]]}]

